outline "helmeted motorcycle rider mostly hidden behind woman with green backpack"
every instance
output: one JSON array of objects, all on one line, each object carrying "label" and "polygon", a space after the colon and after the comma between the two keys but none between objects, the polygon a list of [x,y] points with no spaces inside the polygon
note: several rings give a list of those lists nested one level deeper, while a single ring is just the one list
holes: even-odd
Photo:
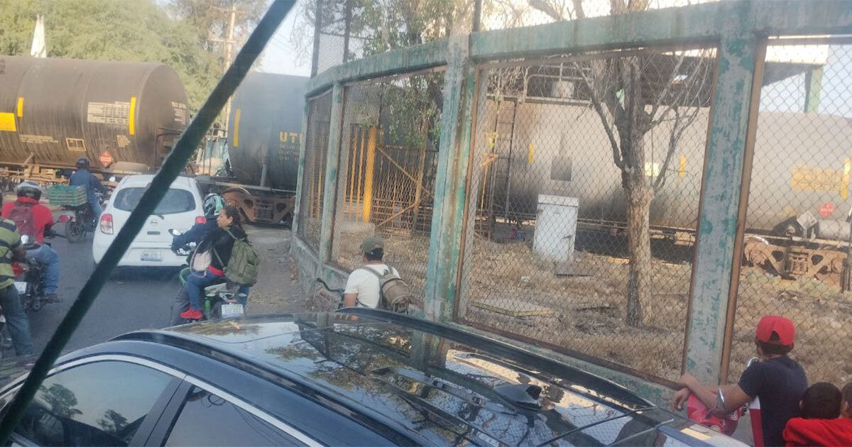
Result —
[{"label": "helmeted motorcycle rider mostly hidden behind woman with green backpack", "polygon": [[[219,194],[210,193],[204,196],[202,209],[204,209],[205,222],[195,224],[187,232],[175,236],[172,239],[171,249],[174,251],[192,242],[198,244],[198,253],[208,249],[210,247],[209,241],[212,240],[210,236],[214,235],[219,228],[217,217],[225,204],[225,199]],[[237,301],[245,306],[248,298],[249,286],[241,285],[237,292]],[[181,324],[184,320],[184,318],[181,318],[181,313],[186,312],[187,309],[189,309],[189,294],[187,286],[184,286],[175,297],[175,303],[172,304],[171,324]]]}]

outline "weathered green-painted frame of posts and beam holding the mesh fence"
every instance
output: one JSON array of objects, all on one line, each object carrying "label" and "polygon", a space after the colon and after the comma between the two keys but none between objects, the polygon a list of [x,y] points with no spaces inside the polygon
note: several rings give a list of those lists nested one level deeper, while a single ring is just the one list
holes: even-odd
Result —
[{"label": "weathered green-painted frame of posts and beam holding the mesh fence", "polygon": [[[343,107],[342,86],[354,81],[446,66],[440,129],[435,213],[429,241],[425,318],[453,324],[458,305],[459,270],[463,259],[463,221],[467,177],[473,145],[477,66],[504,58],[544,54],[702,44],[718,50],[716,95],[705,151],[699,228],[690,289],[683,370],[713,383],[727,374],[729,333],[733,324],[743,222],[751,178],[751,149],[757,100],[763,76],[763,54],[770,37],[852,33],[852,0],[726,1],[684,8],[604,16],[490,32],[475,32],[397,49],[334,66],[308,83],[307,97],[334,89],[328,166],[319,254],[294,237],[292,253],[299,263],[302,286],[312,290],[314,278],[343,284],[347,272],[330,265],[337,162]],[[306,109],[307,111],[307,109]],[[751,132],[751,133],[750,133]],[[302,139],[304,142],[304,139]],[[300,182],[303,170],[300,159]],[[297,201],[301,194],[296,194]],[[743,205],[743,206],[740,206]],[[300,209],[296,203],[296,214]],[[294,219],[297,222],[298,219]],[[295,232],[294,232],[295,234]],[[473,329],[471,329],[473,330]],[[567,358],[556,352],[501,338],[550,357],[580,364],[663,400],[671,388],[642,381]]]}]

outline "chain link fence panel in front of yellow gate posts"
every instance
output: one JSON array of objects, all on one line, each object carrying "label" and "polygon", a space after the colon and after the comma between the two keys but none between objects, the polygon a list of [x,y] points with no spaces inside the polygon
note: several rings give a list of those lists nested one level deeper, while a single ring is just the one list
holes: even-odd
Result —
[{"label": "chain link fence panel in front of yellow gate posts", "polygon": [[423,296],[443,72],[377,79],[345,89],[331,259],[358,268],[360,243],[385,239],[385,260]]}]

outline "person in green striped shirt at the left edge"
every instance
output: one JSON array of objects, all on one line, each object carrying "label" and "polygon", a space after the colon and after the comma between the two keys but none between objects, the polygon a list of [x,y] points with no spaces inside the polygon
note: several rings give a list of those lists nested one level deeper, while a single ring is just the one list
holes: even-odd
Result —
[{"label": "person in green striped shirt at the left edge", "polygon": [[[3,203],[2,195],[0,203]],[[24,307],[21,306],[18,289],[14,288],[12,270],[12,261],[25,259],[26,250],[20,244],[18,227],[13,221],[0,218],[0,307],[3,308],[3,317],[9,325],[9,335],[17,355],[33,354],[30,320],[26,318]]]}]

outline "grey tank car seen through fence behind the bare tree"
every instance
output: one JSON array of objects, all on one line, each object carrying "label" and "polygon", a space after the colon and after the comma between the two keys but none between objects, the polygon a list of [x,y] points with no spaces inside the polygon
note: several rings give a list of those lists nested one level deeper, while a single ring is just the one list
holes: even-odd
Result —
[{"label": "grey tank car seen through fence behind the bare tree", "polygon": [[[665,163],[666,123],[646,135],[649,181],[665,175],[650,210],[655,238],[694,243],[709,110],[701,109]],[[584,106],[489,100],[477,123],[481,214],[531,221],[538,195],[579,198],[579,231],[625,234],[620,170],[600,118]],[[852,215],[852,124],[817,113],[760,112],[746,219],[747,263],[785,277],[835,282]],[[489,152],[491,155],[489,155]],[[483,191],[482,185],[485,185]]]}]

